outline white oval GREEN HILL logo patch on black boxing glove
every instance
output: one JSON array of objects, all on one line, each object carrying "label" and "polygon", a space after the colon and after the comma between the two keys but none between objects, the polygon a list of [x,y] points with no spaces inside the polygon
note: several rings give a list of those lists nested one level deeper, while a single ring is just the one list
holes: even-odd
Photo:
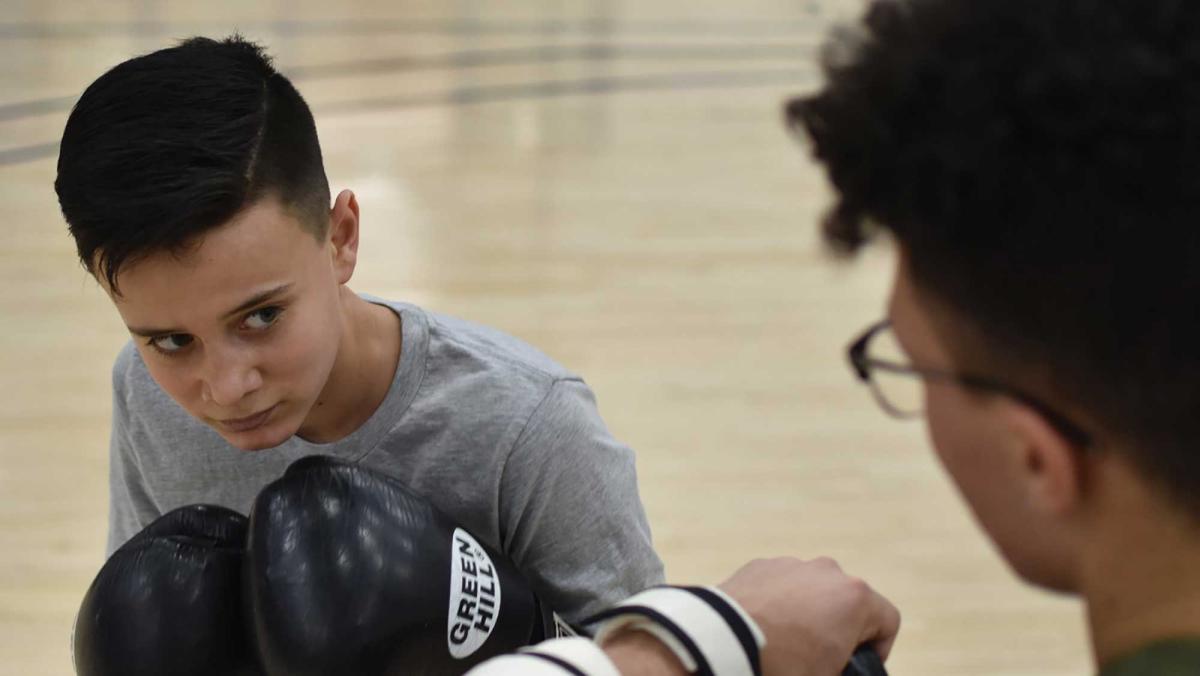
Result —
[{"label": "white oval GREEN HILL logo patch on black boxing glove", "polygon": [[491,557],[475,538],[455,528],[450,545],[450,612],[446,647],[455,659],[469,657],[492,635],[500,614],[500,581]]}]

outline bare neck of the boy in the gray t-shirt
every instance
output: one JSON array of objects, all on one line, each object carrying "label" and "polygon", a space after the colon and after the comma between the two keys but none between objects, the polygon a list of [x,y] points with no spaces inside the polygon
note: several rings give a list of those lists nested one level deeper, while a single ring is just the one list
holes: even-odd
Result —
[{"label": "bare neck of the boy in the gray t-shirt", "polygon": [[379,408],[400,364],[400,317],[347,287],[342,294],[342,339],[320,397],[296,435],[312,443],[344,438]]}]

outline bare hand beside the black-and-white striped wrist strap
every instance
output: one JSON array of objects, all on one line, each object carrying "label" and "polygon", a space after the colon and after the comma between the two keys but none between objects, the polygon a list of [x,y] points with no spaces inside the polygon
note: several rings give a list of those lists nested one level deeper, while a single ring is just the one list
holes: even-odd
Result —
[{"label": "bare hand beside the black-and-white striped wrist strap", "polygon": [[764,675],[834,676],[860,644],[887,659],[900,611],[832,558],[758,560],[720,585],[767,636]]}]

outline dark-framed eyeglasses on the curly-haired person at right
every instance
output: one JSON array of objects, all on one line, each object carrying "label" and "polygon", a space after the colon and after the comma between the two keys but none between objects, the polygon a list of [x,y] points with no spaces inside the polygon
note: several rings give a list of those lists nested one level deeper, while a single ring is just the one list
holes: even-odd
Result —
[{"label": "dark-framed eyeglasses on the curly-haired person at right", "polygon": [[871,325],[863,335],[854,339],[846,354],[858,378],[871,388],[875,400],[896,418],[920,417],[925,408],[924,381],[942,381],[1015,399],[1040,413],[1072,443],[1080,447],[1092,445],[1092,436],[1069,418],[1009,385],[989,378],[920,369],[908,364],[887,319]]}]

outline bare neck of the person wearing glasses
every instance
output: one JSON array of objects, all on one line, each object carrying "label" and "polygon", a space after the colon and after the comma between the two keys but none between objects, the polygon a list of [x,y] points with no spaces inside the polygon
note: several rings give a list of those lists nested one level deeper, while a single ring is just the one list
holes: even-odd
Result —
[{"label": "bare neck of the person wearing glasses", "polygon": [[1200,525],[1130,477],[1091,540],[1079,591],[1105,663],[1164,639],[1200,639]]}]

